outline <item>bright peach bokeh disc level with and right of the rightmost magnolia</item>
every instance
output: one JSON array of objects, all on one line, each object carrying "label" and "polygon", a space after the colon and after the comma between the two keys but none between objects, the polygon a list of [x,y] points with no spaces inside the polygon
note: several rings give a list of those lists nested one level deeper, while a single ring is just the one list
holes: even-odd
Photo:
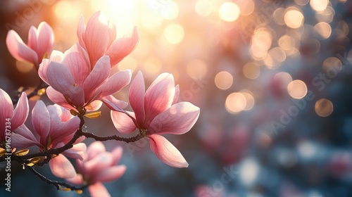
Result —
[{"label": "bright peach bokeh disc level with and right of the rightmost magnolia", "polygon": [[246,108],[246,102],[246,97],[243,94],[233,92],[227,96],[225,108],[229,113],[239,113]]}]

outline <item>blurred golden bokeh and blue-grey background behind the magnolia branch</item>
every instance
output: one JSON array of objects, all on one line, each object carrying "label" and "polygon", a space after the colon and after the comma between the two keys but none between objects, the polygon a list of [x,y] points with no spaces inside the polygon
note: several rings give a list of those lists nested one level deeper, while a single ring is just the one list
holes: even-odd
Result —
[{"label": "blurred golden bokeh and blue-grey background behind the magnolia branch", "polygon": [[[46,21],[54,49],[77,42],[77,23],[102,11],[118,35],[137,26],[140,42],[113,72],[142,70],[146,85],[162,72],[180,84],[180,101],[201,108],[187,134],[165,135],[189,167],[163,164],[146,140],[106,141],[124,148],[124,176],[112,196],[352,196],[352,2],[346,0],[4,0],[0,3],[0,88],[15,96],[39,77],[6,49],[8,30],[27,42]],[[133,77],[134,77],[133,75]],[[115,94],[128,101],[128,87]],[[37,99],[37,98],[36,98]],[[46,104],[51,101],[43,96]],[[115,134],[109,110],[87,131]],[[91,139],[86,140],[87,144]],[[11,193],[56,191],[12,164]],[[38,167],[57,179],[49,167]],[[4,177],[4,170],[1,170]],[[59,179],[58,179],[59,180]]]}]

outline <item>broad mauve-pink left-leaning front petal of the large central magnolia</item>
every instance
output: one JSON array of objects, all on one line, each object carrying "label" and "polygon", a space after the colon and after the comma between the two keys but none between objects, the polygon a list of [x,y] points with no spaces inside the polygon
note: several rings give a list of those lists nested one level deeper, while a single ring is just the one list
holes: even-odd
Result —
[{"label": "broad mauve-pink left-leaning front petal of the large central magnolia", "polygon": [[70,102],[75,106],[82,107],[84,105],[84,91],[75,82],[70,70],[61,64],[56,62],[51,62],[46,71],[48,82],[56,89],[56,91],[61,92],[66,96]]}]

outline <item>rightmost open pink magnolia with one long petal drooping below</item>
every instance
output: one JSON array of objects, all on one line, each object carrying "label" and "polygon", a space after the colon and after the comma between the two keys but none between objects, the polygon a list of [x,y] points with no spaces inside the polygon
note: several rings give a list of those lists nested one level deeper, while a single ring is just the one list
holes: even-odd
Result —
[{"label": "rightmost open pink magnolia with one long petal drooping below", "polygon": [[176,103],[179,87],[169,73],[159,75],[145,91],[142,72],[130,87],[129,99],[134,113],[111,112],[116,129],[127,134],[136,128],[150,141],[151,151],[172,167],[187,167],[180,151],[160,134],[184,134],[199,117],[199,108],[189,102]]}]

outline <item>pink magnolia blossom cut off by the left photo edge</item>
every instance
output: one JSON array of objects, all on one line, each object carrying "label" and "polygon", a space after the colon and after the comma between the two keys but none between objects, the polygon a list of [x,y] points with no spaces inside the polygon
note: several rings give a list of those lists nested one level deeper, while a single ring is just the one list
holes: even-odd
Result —
[{"label": "pink magnolia blossom cut off by the left photo edge", "polygon": [[[6,129],[10,132],[23,125],[29,113],[27,94],[23,92],[15,109],[10,96],[0,89],[0,141],[6,140]],[[7,122],[7,123],[6,123]],[[7,127],[6,127],[7,126]]]}]

